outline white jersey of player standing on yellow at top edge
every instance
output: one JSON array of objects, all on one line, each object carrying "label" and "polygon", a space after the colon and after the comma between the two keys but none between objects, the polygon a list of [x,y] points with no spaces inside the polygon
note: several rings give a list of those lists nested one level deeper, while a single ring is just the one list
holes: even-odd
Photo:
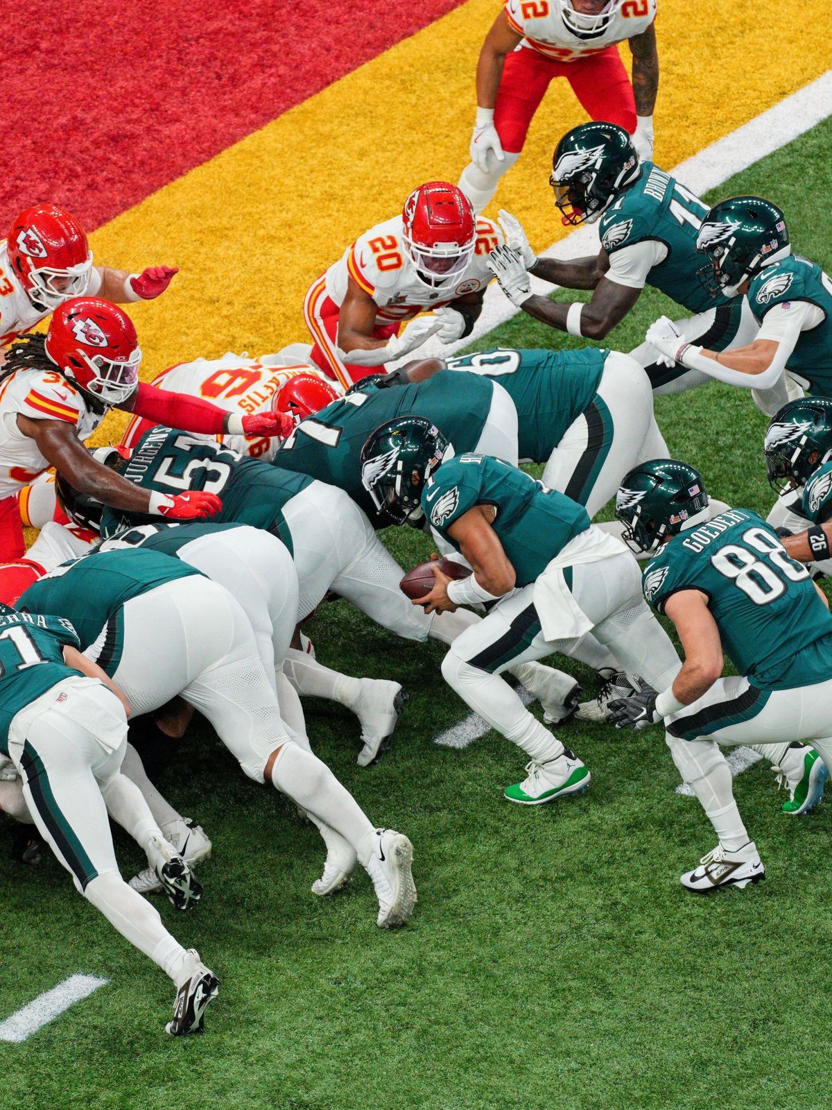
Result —
[{"label": "white jersey of player standing on yellow at top edge", "polygon": [[656,4],[657,0],[623,0],[603,31],[591,39],[569,29],[560,0],[505,0],[505,12],[511,30],[524,36],[520,48],[537,50],[556,62],[571,62],[642,34],[656,19]]}]

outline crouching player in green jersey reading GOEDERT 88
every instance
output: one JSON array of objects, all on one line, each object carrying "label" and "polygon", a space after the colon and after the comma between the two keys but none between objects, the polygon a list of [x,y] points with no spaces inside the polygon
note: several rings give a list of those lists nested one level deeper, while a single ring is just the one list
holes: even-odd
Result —
[{"label": "crouching player in green jersey reading GOEDERT 88", "polygon": [[[673,622],[684,664],[658,697],[646,690],[610,703],[619,727],[664,724],[673,763],[713,826],[717,847],[681,877],[698,894],[765,877],[720,745],[767,747],[780,761],[792,741],[811,740],[832,764],[825,599],[757,513],[730,508],[708,519],[707,505],[702,477],[687,463],[655,460],[621,483],[616,514],[632,544],[656,553],[645,568],[645,597]],[[738,676],[720,678],[723,652]],[[816,756],[806,767],[803,745],[791,750],[794,775],[814,780],[805,811],[828,773],[814,766]]]}]

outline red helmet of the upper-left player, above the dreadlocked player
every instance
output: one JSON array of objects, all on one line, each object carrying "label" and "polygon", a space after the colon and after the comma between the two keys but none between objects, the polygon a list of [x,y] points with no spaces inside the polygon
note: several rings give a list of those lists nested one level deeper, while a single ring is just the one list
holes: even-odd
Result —
[{"label": "red helmet of the upper-left player, above the dreadlocked player", "polygon": [[57,204],[21,212],[9,232],[9,261],[35,309],[52,312],[90,284],[92,253],[81,224]]}]

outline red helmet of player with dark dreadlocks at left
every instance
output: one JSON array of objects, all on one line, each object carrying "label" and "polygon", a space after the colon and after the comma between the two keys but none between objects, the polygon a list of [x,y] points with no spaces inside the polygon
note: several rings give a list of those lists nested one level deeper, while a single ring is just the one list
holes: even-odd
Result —
[{"label": "red helmet of player with dark dreadlocks at left", "polygon": [[77,296],[53,314],[45,351],[79,389],[110,405],[139,384],[142,352],[130,316],[100,296]]}]

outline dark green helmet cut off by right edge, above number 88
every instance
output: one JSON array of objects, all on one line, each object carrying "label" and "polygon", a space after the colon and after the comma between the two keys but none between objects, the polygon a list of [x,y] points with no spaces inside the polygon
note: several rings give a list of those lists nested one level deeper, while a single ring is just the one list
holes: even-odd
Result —
[{"label": "dark green helmet cut off by right edge, above number 88", "polygon": [[763,453],[772,488],[805,485],[832,458],[832,401],[801,397],[783,405],[765,431]]}]

